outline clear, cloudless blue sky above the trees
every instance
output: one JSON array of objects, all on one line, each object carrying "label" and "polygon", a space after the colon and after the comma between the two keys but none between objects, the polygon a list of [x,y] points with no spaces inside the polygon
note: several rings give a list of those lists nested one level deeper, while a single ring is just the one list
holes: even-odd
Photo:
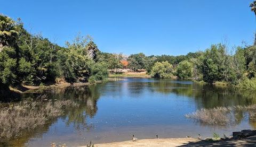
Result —
[{"label": "clear, cloudless blue sky above the trees", "polygon": [[85,0],[3,3],[0,13],[60,46],[90,34],[100,50],[126,55],[183,55],[228,40],[253,42],[253,0]]}]

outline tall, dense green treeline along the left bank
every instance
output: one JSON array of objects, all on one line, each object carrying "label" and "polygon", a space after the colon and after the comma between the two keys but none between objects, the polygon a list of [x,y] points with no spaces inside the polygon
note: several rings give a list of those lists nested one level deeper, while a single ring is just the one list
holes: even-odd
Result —
[{"label": "tall, dense green treeline along the left bank", "polygon": [[108,62],[92,38],[78,35],[66,47],[30,34],[17,22],[0,15],[0,88],[66,81],[94,82],[108,76]]}]

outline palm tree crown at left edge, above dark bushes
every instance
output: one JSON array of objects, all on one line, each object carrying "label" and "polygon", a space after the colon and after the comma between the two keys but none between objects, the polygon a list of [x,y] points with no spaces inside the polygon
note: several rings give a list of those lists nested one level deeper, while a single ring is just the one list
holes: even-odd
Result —
[{"label": "palm tree crown at left edge, above dark bushes", "polygon": [[3,46],[12,44],[17,33],[15,22],[8,16],[0,14],[0,51]]}]

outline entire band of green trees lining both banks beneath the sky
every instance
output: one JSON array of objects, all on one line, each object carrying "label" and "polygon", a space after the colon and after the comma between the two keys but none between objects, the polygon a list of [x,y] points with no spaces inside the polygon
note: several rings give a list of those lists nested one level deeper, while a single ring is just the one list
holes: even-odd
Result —
[{"label": "entire band of green trees lining both banks beneath the sky", "polygon": [[233,54],[223,44],[205,51],[180,56],[146,56],[143,53],[125,57],[102,53],[90,36],[79,34],[65,47],[30,34],[18,19],[0,15],[0,88],[20,84],[44,85],[66,81],[94,82],[104,80],[108,71],[118,72],[122,60],[133,71],[147,70],[152,77],[190,78],[207,83],[225,82],[256,89],[256,46],[237,47]]}]

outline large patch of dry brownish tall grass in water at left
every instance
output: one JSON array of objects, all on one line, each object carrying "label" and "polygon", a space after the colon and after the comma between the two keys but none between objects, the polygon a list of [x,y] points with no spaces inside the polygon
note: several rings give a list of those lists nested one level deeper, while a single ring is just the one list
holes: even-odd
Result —
[{"label": "large patch of dry brownish tall grass in water at left", "polygon": [[43,126],[48,120],[64,114],[65,109],[78,106],[65,100],[55,102],[20,102],[14,106],[0,109],[0,139],[10,140],[36,127]]}]

